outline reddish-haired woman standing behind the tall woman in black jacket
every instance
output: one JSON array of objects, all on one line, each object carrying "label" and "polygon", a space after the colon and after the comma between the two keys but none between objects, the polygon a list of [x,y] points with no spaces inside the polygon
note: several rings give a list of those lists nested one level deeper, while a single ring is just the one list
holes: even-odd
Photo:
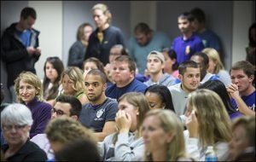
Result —
[{"label": "reddish-haired woman standing behind the tall woman in black jacket", "polygon": [[88,46],[88,40],[93,26],[90,23],[83,23],[79,26],[77,32],[77,41],[72,44],[68,51],[68,67],[79,67],[81,69],[84,61],[84,55]]}]

